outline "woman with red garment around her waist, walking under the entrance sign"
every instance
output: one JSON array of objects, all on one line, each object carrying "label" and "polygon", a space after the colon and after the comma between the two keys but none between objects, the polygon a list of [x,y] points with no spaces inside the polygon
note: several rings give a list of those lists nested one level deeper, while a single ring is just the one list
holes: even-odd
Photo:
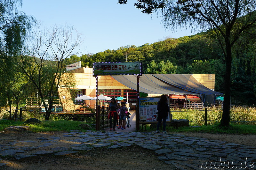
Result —
[{"label": "woman with red garment around her waist, walking under the entrance sign", "polygon": [[[119,118],[119,116],[117,115],[117,112],[116,112],[116,107],[117,107],[116,99],[112,98],[111,103],[109,103],[108,110],[107,110],[108,119],[110,121],[109,122],[110,123],[110,131],[113,130],[112,129],[113,124],[114,124],[114,130],[116,130],[116,118]],[[108,114],[108,111],[109,111],[109,114]],[[113,124],[112,124],[112,118],[114,118]]]}]

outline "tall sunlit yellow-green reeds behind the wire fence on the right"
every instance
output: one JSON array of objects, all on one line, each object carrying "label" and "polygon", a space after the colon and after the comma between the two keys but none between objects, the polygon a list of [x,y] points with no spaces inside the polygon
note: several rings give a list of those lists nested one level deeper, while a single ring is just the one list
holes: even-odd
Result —
[{"label": "tall sunlit yellow-green reeds behind the wire fence on the right", "polygon": [[[191,126],[201,126],[205,124],[205,110],[171,110],[172,119],[187,119]],[[207,124],[216,125],[220,123],[222,110],[211,107],[207,109]],[[230,124],[256,124],[256,107],[230,108]]]}]

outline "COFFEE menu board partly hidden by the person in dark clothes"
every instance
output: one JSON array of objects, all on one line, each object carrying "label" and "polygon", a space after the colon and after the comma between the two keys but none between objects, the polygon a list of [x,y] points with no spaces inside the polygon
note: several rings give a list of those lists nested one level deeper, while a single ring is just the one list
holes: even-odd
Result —
[{"label": "COFFEE menu board partly hidden by the person in dark clothes", "polygon": [[[139,112],[140,122],[156,122],[157,102],[161,97],[140,97]],[[168,106],[170,106],[169,97],[166,97]],[[170,122],[170,108],[166,122]]]}]

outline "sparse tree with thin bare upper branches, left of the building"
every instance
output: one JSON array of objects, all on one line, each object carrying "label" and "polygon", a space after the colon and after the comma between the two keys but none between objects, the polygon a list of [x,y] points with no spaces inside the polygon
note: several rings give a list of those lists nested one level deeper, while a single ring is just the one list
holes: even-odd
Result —
[{"label": "sparse tree with thin bare upper branches, left of the building", "polygon": [[78,53],[76,48],[82,40],[81,35],[68,25],[54,26],[45,31],[38,26],[34,33],[25,46],[24,52],[28,55],[21,54],[17,65],[38,91],[46,112],[45,120],[49,120],[58,89],[74,86],[72,74],[64,75],[64,61]]}]

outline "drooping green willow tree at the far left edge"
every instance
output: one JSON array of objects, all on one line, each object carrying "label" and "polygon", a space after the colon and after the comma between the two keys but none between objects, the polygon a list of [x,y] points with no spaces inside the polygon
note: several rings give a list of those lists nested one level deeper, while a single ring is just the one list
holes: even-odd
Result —
[{"label": "drooping green willow tree at the far left edge", "polygon": [[7,101],[12,103],[13,63],[35,22],[33,17],[17,10],[21,4],[19,0],[0,0],[0,106],[6,106]]}]

